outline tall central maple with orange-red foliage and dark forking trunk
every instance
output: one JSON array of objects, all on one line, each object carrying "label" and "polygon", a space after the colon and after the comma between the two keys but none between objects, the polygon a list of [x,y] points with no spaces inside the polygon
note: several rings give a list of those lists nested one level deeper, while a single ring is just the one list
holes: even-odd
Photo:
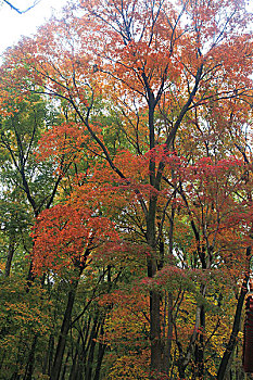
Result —
[{"label": "tall central maple with orange-red foliage and dark forking trunk", "polygon": [[[37,152],[54,165],[61,202],[42,213],[45,204],[31,203],[34,271],[68,278],[77,270],[51,379],[60,376],[75,294],[93,255],[121,279],[115,287],[124,289],[127,278],[147,287],[149,340],[139,359],[150,357],[148,377],[224,378],[222,350],[211,358],[232,294],[220,289],[226,279],[238,296],[252,245],[250,23],[243,1],[87,0],[5,53],[3,117],[15,117],[13,107],[30,93],[61,114]],[[237,306],[229,301],[226,309],[237,307],[227,353],[236,345],[243,287]],[[130,376],[130,358],[121,353],[110,376]]]}]

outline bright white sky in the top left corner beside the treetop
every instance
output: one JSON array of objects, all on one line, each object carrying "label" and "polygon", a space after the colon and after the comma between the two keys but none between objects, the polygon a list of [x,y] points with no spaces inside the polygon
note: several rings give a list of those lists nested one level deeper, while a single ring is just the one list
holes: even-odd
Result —
[{"label": "bright white sky in the top left corner beside the treetop", "polygon": [[[34,0],[9,0],[20,10],[27,9]],[[29,36],[36,33],[36,28],[45,24],[52,14],[52,10],[61,10],[67,0],[40,0],[40,2],[27,13],[18,14],[0,0],[0,53],[8,47],[16,43],[21,36]]]}]

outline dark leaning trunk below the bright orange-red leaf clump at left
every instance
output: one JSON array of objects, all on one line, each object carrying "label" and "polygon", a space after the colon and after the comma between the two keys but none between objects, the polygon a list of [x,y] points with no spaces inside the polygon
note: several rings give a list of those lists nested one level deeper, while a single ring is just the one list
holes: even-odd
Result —
[{"label": "dark leaning trunk below the bright orange-red leaf clump at left", "polygon": [[72,289],[68,292],[67,305],[64,313],[64,318],[63,318],[61,332],[58,341],[56,352],[54,355],[54,362],[53,362],[50,380],[59,380],[60,378],[62,360],[63,360],[63,355],[64,355],[65,345],[66,345],[66,338],[71,326],[71,316],[72,316],[72,309],[74,306],[77,286],[78,286],[78,280],[75,280],[74,283],[72,284]]}]

